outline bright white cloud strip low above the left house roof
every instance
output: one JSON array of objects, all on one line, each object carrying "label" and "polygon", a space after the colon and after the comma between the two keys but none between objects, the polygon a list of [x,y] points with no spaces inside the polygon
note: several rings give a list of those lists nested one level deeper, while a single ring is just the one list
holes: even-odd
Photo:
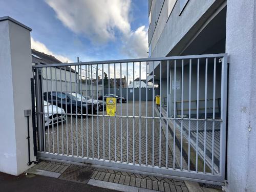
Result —
[{"label": "bright white cloud strip low above the left house roof", "polygon": [[60,60],[61,62],[67,62],[67,61],[68,62],[73,62],[71,59],[69,59],[66,56],[59,55],[59,54],[54,54],[52,51],[50,51],[46,47],[45,44],[43,44],[40,41],[34,40],[32,37],[31,37],[31,48],[35,49],[36,51],[39,51],[39,52],[44,52],[45,54],[48,54],[48,55],[52,55],[52,56],[56,57],[58,60]]}]

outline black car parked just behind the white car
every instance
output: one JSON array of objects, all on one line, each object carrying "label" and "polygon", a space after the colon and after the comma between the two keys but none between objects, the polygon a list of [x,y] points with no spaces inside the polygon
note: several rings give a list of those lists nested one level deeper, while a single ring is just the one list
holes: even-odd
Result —
[{"label": "black car parked just behind the white car", "polygon": [[[47,98],[48,95],[48,98]],[[67,100],[66,100],[67,98]],[[45,92],[44,100],[48,101],[51,104],[57,105],[66,110],[67,105],[67,113],[73,114],[86,114],[88,110],[88,114],[95,114],[97,110],[100,108],[100,104],[97,102],[90,102],[90,100],[84,99],[80,94],[75,92]],[[76,111],[77,104],[77,111]],[[98,107],[98,108],[97,108]],[[93,110],[92,110],[93,109]]]}]

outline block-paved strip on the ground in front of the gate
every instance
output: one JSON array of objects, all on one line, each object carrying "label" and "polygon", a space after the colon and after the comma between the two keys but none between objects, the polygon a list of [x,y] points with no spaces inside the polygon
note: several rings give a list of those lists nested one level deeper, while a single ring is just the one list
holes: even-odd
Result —
[{"label": "block-paved strip on the ground in front of the gate", "polygon": [[95,168],[90,164],[79,166],[55,161],[41,161],[39,164],[28,169],[27,173],[51,176],[61,180],[82,184],[93,184],[95,181],[96,183],[97,181],[102,181],[107,188],[112,187],[117,189],[115,184],[122,185],[122,188],[124,189],[125,187],[132,187],[126,189],[128,191],[138,191],[139,189],[188,191],[184,181],[181,180],[135,174],[131,172],[120,172],[112,169]]}]

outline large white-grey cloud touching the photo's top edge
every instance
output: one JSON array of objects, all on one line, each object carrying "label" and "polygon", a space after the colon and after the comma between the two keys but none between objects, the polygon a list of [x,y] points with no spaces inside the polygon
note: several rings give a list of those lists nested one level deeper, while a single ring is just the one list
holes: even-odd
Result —
[{"label": "large white-grey cloud touching the photo's top edge", "polygon": [[46,0],[57,18],[77,34],[84,34],[95,43],[115,38],[115,29],[130,31],[131,0]]}]

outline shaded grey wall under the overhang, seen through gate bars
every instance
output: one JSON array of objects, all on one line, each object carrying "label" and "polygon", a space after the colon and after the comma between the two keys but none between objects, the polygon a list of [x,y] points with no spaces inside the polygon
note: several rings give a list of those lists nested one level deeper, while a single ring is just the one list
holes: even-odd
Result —
[{"label": "shaded grey wall under the overhang, seen through gate bars", "polygon": [[[176,69],[176,81],[180,84],[180,89],[176,90],[176,109],[177,115],[181,114],[181,91],[182,91],[182,81],[181,81],[181,67]],[[170,116],[174,115],[174,90],[172,89],[172,82],[174,81],[174,68],[170,69],[169,75],[171,80],[168,79],[168,93],[169,93],[169,112]],[[189,65],[184,65],[184,82],[183,82],[183,114],[188,114],[188,100],[189,100]],[[170,84],[171,83],[171,84]],[[171,85],[171,86],[170,86]],[[162,78],[161,85],[161,98],[162,104],[166,104],[167,99],[167,80],[166,77]],[[213,109],[213,96],[214,96],[214,65],[213,61],[208,63],[207,72],[207,113],[212,113]],[[221,98],[221,63],[216,64],[216,103],[215,110],[216,113],[219,112],[218,98]],[[191,114],[196,114],[196,103],[197,100],[197,61],[193,62],[191,66]],[[205,61],[201,60],[201,65],[199,68],[199,113],[204,113],[205,108]],[[219,100],[220,102],[220,100]],[[220,104],[220,103],[219,103]]]}]

